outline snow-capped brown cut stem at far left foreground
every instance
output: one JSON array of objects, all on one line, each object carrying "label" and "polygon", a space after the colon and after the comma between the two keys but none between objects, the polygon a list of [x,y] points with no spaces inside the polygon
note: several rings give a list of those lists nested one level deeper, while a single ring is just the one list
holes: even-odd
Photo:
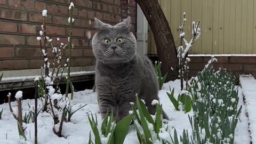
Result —
[{"label": "snow-capped brown cut stem at far left foreground", "polygon": [[22,91],[18,91],[15,94],[15,98],[17,101],[17,111],[13,111],[12,106],[11,106],[11,93],[8,95],[8,103],[9,103],[9,109],[14,117],[14,119],[17,120],[17,125],[18,125],[18,132],[19,132],[19,137],[20,139],[24,139],[25,141],[27,140],[26,135],[25,135],[25,130],[27,129],[26,124],[23,124],[22,121]]}]

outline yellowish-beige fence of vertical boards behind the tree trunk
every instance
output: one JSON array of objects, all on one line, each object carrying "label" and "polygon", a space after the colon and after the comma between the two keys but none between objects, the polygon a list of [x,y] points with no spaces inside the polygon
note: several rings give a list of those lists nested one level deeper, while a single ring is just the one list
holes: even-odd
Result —
[{"label": "yellowish-beige fence of vertical boards behind the tree trunk", "polygon": [[[179,26],[186,12],[186,39],[191,22],[200,20],[201,37],[191,54],[256,54],[256,1],[254,0],[158,0],[172,30],[176,46]],[[148,54],[157,54],[148,30]]]}]

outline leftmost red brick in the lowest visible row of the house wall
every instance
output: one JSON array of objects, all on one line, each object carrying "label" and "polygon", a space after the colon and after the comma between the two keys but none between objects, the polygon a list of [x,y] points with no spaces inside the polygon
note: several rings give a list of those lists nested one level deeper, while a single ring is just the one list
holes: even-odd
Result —
[{"label": "leftmost red brick in the lowest visible row of the house wall", "polygon": [[28,69],[29,60],[3,60],[1,70]]}]

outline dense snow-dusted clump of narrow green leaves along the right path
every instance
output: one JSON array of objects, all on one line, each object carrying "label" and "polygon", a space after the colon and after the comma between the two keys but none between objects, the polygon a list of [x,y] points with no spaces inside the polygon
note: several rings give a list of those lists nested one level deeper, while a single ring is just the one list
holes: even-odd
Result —
[{"label": "dense snow-dusted clump of narrow green leaves along the right path", "polygon": [[[209,63],[213,60],[212,58]],[[242,109],[242,106],[237,109],[238,91],[235,89],[235,77],[226,69],[215,72],[208,64],[197,75],[191,85],[193,89],[190,89],[198,93],[198,89],[193,86],[198,85],[198,82],[201,84],[201,98],[193,103],[194,116],[189,116],[193,129],[192,139],[198,144],[233,144],[235,127]]]}]

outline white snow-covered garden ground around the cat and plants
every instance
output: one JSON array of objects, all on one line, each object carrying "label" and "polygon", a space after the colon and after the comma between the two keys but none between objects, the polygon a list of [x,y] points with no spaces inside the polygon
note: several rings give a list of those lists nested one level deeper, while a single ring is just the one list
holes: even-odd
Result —
[{"label": "white snow-covered garden ground around the cat and plants", "polygon": [[[188,133],[191,134],[191,126],[189,123],[188,115],[193,115],[193,112],[185,114],[183,111],[176,111],[171,101],[167,97],[166,92],[169,91],[169,86],[175,89],[174,97],[177,98],[180,92],[180,81],[168,82],[163,85],[163,90],[159,91],[160,102],[163,104],[163,109],[170,117],[171,125],[177,129],[178,135],[182,134],[183,129],[188,129]],[[243,105],[242,90],[239,89],[239,105]],[[38,143],[88,143],[89,132],[91,130],[89,121],[87,119],[88,114],[97,114],[99,124],[101,124],[101,118],[99,114],[99,108],[97,104],[97,95],[93,93],[93,90],[84,90],[74,93],[74,100],[71,101],[76,105],[88,103],[87,106],[78,110],[72,117],[71,122],[64,123],[62,134],[63,138],[57,137],[52,131],[53,119],[49,113],[40,113],[38,115]],[[34,105],[34,100],[23,100],[23,111],[29,110],[28,104]],[[12,106],[16,106],[16,102],[11,103]],[[255,103],[256,104],[256,103]],[[255,105],[254,105],[255,106]],[[2,120],[0,120],[0,143],[18,144],[20,143],[19,134],[17,130],[17,121],[10,113],[7,103],[0,105],[0,110],[3,108]],[[15,108],[13,108],[15,109]],[[248,133],[248,119],[246,117],[246,111],[243,107],[241,116],[239,117],[237,128],[235,131],[235,142],[237,144],[250,143],[250,136]],[[256,130],[256,129],[255,129]],[[173,131],[172,131],[173,134]],[[34,143],[34,123],[27,124],[26,137],[31,143]],[[137,134],[135,133],[134,126],[130,126],[129,134],[127,135],[124,143],[139,143]]]}]

